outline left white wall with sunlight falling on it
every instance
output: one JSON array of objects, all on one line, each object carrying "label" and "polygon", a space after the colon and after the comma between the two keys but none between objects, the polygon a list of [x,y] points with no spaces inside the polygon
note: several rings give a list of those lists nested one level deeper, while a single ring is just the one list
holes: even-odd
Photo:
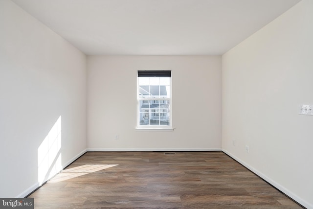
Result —
[{"label": "left white wall with sunlight falling on it", "polygon": [[87,58],[10,0],[0,28],[0,197],[24,197],[86,150]]}]

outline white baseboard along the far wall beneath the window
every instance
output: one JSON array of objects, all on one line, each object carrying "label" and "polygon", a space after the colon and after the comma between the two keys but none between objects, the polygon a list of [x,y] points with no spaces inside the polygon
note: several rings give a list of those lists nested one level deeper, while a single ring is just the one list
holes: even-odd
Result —
[{"label": "white baseboard along the far wall beneath the window", "polygon": [[221,148],[88,148],[87,152],[195,152],[222,151]]}]

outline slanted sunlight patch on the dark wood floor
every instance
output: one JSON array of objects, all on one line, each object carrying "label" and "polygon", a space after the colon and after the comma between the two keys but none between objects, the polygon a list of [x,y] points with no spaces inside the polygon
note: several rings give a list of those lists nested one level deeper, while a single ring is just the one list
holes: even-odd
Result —
[{"label": "slanted sunlight patch on the dark wood floor", "polygon": [[57,176],[55,176],[53,179],[51,179],[48,183],[57,183],[62,182],[68,179],[72,179],[78,176],[83,176],[89,173],[93,173],[99,170],[107,169],[110,167],[114,167],[118,164],[111,164],[111,165],[103,165],[103,164],[86,164],[78,167],[69,168],[66,170],[63,170],[61,173],[59,173]]}]

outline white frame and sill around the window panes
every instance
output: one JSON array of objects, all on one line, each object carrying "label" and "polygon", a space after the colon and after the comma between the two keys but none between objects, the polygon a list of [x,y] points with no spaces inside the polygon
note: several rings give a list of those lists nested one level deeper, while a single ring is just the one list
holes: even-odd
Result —
[{"label": "white frame and sill around the window panes", "polygon": [[[173,71],[172,71],[173,72]],[[173,75],[173,73],[172,73]],[[136,117],[137,117],[137,125],[136,125],[136,130],[142,130],[142,131],[173,131],[173,108],[172,108],[172,76],[169,77],[170,79],[170,97],[169,98],[145,98],[145,97],[139,97],[139,77],[137,76],[137,111],[136,111]],[[165,101],[169,101],[169,125],[140,125],[140,101],[142,100],[149,100],[150,103],[152,104],[154,101],[153,100],[160,100],[160,103],[158,104],[163,104],[167,103]],[[160,109],[162,110],[162,109]]]}]

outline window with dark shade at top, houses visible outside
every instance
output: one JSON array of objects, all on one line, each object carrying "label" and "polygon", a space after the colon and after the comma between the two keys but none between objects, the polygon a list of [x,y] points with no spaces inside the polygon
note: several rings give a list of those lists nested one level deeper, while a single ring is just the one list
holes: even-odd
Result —
[{"label": "window with dark shade at top, houses visible outside", "polygon": [[172,129],[171,70],[138,70],[137,128]]}]

